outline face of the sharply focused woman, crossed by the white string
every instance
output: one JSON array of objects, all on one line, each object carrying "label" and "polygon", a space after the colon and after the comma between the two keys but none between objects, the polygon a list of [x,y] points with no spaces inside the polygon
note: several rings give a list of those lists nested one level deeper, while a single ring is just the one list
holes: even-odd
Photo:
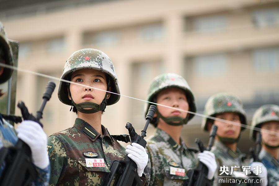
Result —
[{"label": "face of the sharply focused woman, crossed by the white string", "polygon": [[90,88],[94,87],[107,90],[106,76],[103,72],[93,69],[77,70],[71,75],[71,81],[88,86],[83,87],[76,84],[70,84],[71,96],[76,104],[82,102],[100,104],[103,101],[106,92]]}]

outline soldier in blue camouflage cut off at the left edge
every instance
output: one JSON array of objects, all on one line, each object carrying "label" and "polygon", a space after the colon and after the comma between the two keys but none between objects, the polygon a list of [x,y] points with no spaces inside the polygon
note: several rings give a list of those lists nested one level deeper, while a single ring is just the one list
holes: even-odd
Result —
[{"label": "soldier in blue camouflage cut off at the left edge", "polygon": [[[7,39],[4,27],[0,22],[0,63],[13,66],[13,53],[10,41]],[[10,79],[12,69],[0,66],[0,84]],[[0,90],[0,97],[3,95]],[[47,135],[42,127],[30,120],[23,121],[16,129],[0,114],[0,148],[14,146],[18,138],[23,140],[31,149],[33,164],[38,176],[33,185],[47,185],[49,180],[49,159],[47,156]],[[6,165],[0,165],[0,177]]]}]

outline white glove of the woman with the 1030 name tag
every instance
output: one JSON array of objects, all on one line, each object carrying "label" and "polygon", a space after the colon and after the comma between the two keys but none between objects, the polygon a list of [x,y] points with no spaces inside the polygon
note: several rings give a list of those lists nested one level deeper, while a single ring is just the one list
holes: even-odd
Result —
[{"label": "white glove of the woman with the 1030 name tag", "polygon": [[148,162],[148,154],[146,153],[144,147],[137,143],[132,143],[132,145],[127,145],[126,154],[129,158],[135,161],[138,166],[138,175],[142,176],[144,168]]}]

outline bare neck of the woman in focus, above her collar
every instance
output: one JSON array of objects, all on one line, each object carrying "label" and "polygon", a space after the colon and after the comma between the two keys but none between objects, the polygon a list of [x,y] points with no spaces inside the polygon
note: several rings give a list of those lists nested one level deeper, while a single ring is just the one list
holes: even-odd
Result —
[{"label": "bare neck of the woman in focus, above her collar", "polygon": [[101,117],[102,117],[102,111],[95,112],[92,114],[85,114],[85,113],[78,111],[78,118],[86,121],[102,136],[103,134],[102,134],[102,128],[101,128]]}]

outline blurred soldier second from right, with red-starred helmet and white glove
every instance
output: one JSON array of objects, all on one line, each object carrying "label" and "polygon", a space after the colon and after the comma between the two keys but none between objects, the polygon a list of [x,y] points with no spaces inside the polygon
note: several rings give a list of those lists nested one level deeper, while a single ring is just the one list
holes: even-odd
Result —
[{"label": "blurred soldier second from right, with red-starred helmet and white glove", "polygon": [[[213,116],[219,119],[229,120],[239,124],[247,125],[246,123],[246,113],[243,109],[241,100],[235,95],[228,93],[218,93],[211,96],[205,105],[204,114],[207,116]],[[245,128],[241,125],[232,125],[218,120],[212,120],[204,118],[201,128],[205,131],[210,131],[212,125],[217,125],[218,129],[215,136],[214,146],[211,148],[211,151],[215,154],[217,162],[217,171],[214,180],[214,185],[227,185],[222,182],[222,178],[217,176],[232,176],[231,179],[247,179],[241,178],[246,176],[243,174],[242,166],[248,166],[252,161],[251,157],[247,157],[245,154],[237,148],[237,142],[240,139],[241,131]],[[261,185],[267,185],[267,170],[260,162],[253,162],[254,166],[262,166],[263,172],[258,176],[264,176],[263,183]],[[224,173],[225,167],[228,167],[228,175]],[[233,167],[233,170],[231,171]],[[252,166],[251,166],[252,167]],[[250,167],[250,168],[251,168]],[[253,170],[249,170],[253,172]],[[220,175],[221,174],[221,175]],[[242,180],[244,182],[244,180]],[[223,183],[223,184],[222,184]],[[246,185],[245,183],[241,184],[231,184],[231,185]]]}]

